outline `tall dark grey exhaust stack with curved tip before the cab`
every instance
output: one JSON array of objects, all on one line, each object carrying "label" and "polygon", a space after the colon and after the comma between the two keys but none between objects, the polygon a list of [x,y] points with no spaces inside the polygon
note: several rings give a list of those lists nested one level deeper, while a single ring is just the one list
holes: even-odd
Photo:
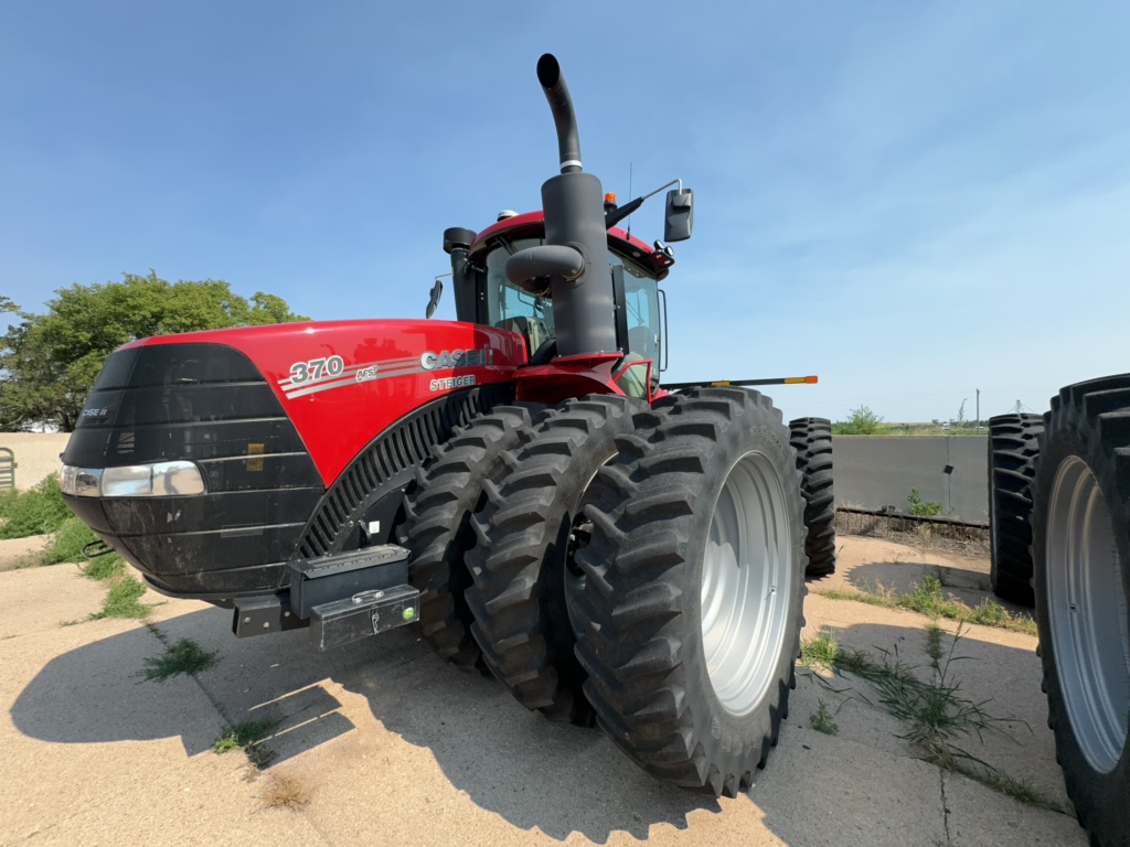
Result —
[{"label": "tall dark grey exhaust stack with curved tip before the cab", "polygon": [[[506,262],[506,277],[527,289],[548,277],[559,356],[616,351],[612,277],[608,267],[605,192],[581,171],[581,141],[565,78],[557,60],[538,60],[538,81],[557,126],[560,174],[541,186],[546,216],[545,247],[519,251]],[[570,253],[565,253],[567,248]]]}]

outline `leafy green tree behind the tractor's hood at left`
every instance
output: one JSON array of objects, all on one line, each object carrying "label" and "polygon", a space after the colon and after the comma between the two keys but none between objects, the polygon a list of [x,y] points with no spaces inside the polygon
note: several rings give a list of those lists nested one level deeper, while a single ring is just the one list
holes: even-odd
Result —
[{"label": "leafy green tree behind the tractor's hood at left", "polygon": [[276,295],[257,291],[249,302],[223,280],[167,282],[154,271],[61,288],[46,305],[37,315],[0,297],[20,320],[0,348],[0,429],[52,421],[73,430],[106,358],[129,341],[310,320]]}]

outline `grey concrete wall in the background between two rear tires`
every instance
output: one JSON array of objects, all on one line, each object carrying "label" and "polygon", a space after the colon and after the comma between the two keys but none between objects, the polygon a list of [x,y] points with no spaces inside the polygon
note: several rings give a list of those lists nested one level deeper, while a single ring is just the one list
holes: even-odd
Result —
[{"label": "grey concrete wall in the background between two rear tires", "polygon": [[[946,514],[989,519],[988,437],[851,436],[832,439],[836,504],[909,509],[911,489]],[[947,470],[948,469],[948,470]]]}]

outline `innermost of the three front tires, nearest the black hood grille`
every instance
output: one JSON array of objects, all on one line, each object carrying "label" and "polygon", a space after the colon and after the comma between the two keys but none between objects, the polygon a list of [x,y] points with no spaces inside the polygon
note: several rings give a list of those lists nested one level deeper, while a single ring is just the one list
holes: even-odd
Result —
[{"label": "innermost of the three front tires, nearest the black hood grille", "polygon": [[455,431],[435,459],[417,471],[405,499],[398,539],[411,550],[408,580],[420,592],[420,627],[443,658],[470,670],[480,663],[463,593],[471,584],[463,562],[475,547],[471,515],[483,506],[483,486],[503,469],[503,453],[532,431],[542,407],[495,407]]}]

